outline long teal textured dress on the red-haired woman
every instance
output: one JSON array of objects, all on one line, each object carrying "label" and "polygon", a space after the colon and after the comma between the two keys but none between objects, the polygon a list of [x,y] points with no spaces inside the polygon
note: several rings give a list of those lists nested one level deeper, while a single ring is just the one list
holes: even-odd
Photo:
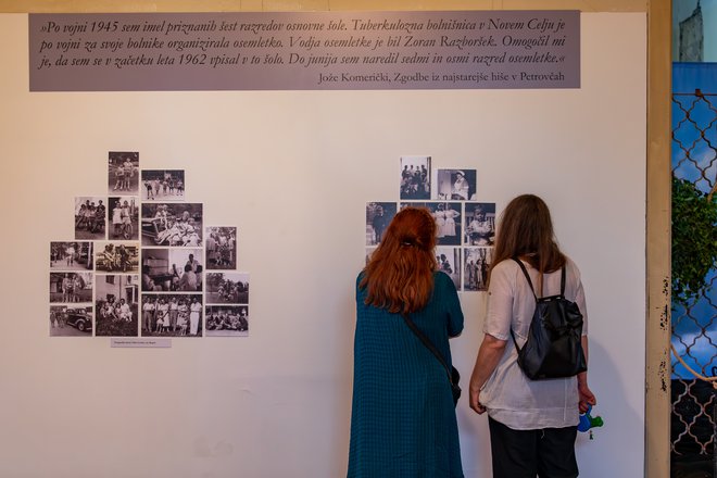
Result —
[{"label": "long teal textured dress on the red-haired woman", "polygon": [[[463,477],[445,369],[400,314],[364,304],[361,278],[349,478]],[[451,278],[436,273],[433,282],[430,301],[411,318],[450,367],[449,337],[463,330],[463,312]]]}]

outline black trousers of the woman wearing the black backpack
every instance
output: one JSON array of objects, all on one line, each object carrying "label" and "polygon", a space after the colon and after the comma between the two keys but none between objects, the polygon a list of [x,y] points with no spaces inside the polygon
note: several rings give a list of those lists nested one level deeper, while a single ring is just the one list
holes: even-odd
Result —
[{"label": "black trousers of the woman wearing the black backpack", "polygon": [[575,478],[578,427],[514,430],[488,418],[493,478]]}]

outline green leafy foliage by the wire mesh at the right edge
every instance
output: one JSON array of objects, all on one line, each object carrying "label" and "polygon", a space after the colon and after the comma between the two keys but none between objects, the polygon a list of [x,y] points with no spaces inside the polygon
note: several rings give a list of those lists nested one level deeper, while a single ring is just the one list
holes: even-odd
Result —
[{"label": "green leafy foliage by the wire mesh at the right edge", "polygon": [[717,201],[672,176],[672,301],[687,305],[717,259]]}]

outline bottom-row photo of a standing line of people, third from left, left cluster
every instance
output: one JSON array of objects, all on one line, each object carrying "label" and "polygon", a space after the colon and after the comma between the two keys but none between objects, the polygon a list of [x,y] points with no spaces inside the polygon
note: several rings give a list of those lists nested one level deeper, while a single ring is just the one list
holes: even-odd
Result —
[{"label": "bottom-row photo of a standing line of people, third from left, left cluster", "polygon": [[142,337],[202,337],[201,293],[143,293]]}]

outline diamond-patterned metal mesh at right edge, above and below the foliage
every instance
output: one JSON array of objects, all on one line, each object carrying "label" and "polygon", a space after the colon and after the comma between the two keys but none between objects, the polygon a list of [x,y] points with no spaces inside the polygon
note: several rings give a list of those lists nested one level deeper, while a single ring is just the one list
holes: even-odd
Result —
[{"label": "diamond-patterned metal mesh at right edge, above and below the foliage", "polygon": [[[685,179],[708,198],[716,194],[717,95],[672,95],[672,175]],[[716,225],[717,227],[717,225]],[[714,244],[713,244],[714,247]],[[717,269],[707,287],[684,303],[672,302],[672,345],[697,374],[717,375]],[[674,461],[715,452],[715,389],[696,378],[672,356],[671,456]],[[702,476],[702,475],[701,475]]]}]

